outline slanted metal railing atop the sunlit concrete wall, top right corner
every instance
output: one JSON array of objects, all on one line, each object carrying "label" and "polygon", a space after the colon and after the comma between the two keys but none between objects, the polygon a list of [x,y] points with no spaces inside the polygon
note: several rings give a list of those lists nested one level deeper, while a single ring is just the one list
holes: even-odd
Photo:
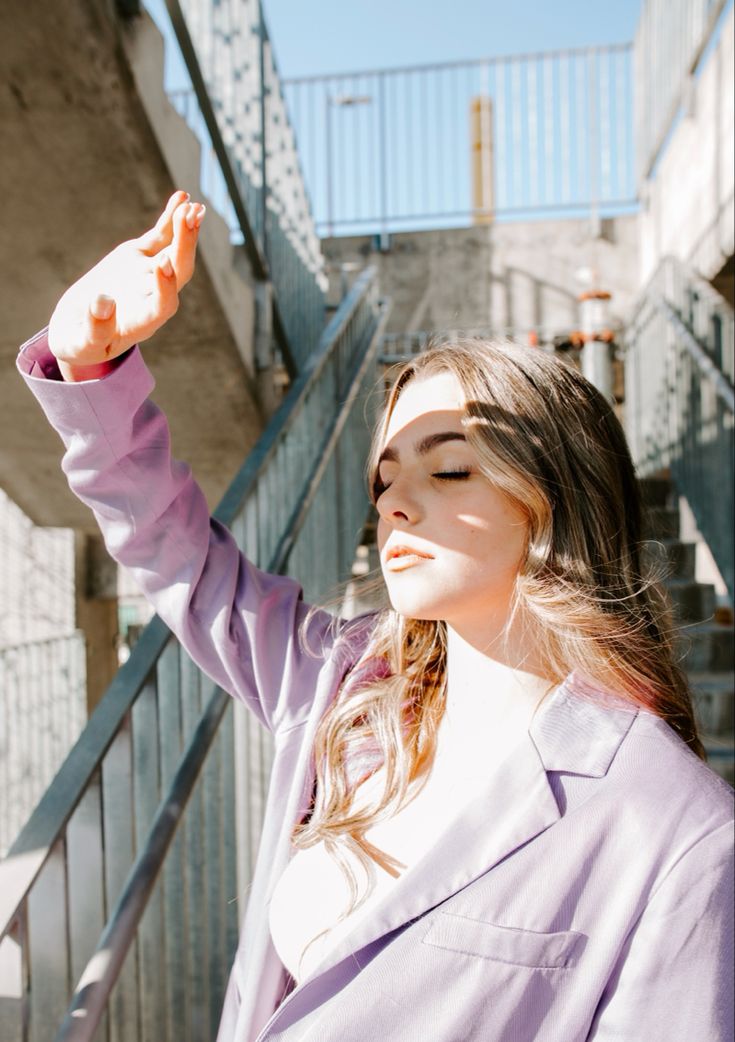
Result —
[{"label": "slanted metal railing atop the sunlit concrete wall, top right corner", "polygon": [[645,0],[635,36],[637,180],[651,176],[729,0]]}]

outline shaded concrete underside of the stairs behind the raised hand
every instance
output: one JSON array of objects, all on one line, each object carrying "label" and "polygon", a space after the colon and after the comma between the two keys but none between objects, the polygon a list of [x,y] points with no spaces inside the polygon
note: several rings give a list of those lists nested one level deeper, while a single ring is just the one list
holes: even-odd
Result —
[{"label": "shaded concrete underside of the stairs behind the raised hand", "polygon": [[[39,0],[31,17],[10,5],[0,33],[0,487],[36,524],[87,530],[94,518],[67,490],[58,439],[15,372],[18,347],[48,322],[72,281],[153,223],[174,188],[200,195],[199,145],[162,100],[160,36],[149,20],[126,26],[113,10],[92,0]],[[163,150],[136,90],[141,69],[157,77],[158,107],[168,108]],[[247,357],[250,276],[211,207],[199,253],[178,314],[144,351],[174,452],[214,506],[263,419]]]}]

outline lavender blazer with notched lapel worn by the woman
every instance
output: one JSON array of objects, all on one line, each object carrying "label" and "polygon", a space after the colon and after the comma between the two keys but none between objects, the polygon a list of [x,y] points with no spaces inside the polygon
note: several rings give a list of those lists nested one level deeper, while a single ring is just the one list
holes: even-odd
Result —
[{"label": "lavender blazer with notched lapel worn by the woman", "polygon": [[[192,658],[275,738],[265,827],[218,1042],[731,1042],[731,788],[653,714],[571,675],[436,846],[281,1001],[268,904],[312,790],[311,748],[356,647],[298,585],[244,561],[172,462],[136,348],[59,382],[19,369],[111,552]],[[366,635],[369,618],[365,620]]]}]

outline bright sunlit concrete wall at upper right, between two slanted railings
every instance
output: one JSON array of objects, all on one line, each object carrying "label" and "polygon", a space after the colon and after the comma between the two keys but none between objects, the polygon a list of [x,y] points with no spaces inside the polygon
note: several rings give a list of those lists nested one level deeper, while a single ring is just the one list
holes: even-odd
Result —
[{"label": "bright sunlit concrete wall at upper right, between two slanted railings", "polygon": [[642,188],[643,284],[667,254],[713,279],[735,252],[733,18],[731,7],[716,47],[690,84],[688,113]]}]

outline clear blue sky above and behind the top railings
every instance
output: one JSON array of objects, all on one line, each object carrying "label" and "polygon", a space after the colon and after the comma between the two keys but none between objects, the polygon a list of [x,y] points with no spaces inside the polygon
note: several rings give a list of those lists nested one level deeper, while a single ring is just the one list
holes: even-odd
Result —
[{"label": "clear blue sky above and behind the top railings", "polygon": [[[145,3],[170,38],[165,0]],[[599,0],[559,0],[556,4],[548,0],[263,3],[279,75],[285,80],[629,44],[641,6],[641,0],[607,4]],[[560,216],[562,210],[566,213],[564,207],[587,206],[592,199],[595,204],[627,206],[635,195],[631,121],[621,115],[631,106],[630,60],[629,52],[618,51],[615,56],[608,52],[605,58],[590,57],[589,69],[584,54],[499,63],[482,69],[464,66],[462,72],[411,74],[413,86],[402,82],[403,74],[394,74],[382,77],[387,83],[385,106],[383,88],[375,77],[350,76],[349,82],[330,80],[328,85],[324,81],[292,84],[287,89],[287,101],[320,233],[325,233],[324,228],[326,233],[372,228],[377,216],[387,228],[386,214],[395,217],[395,227],[407,228],[423,226],[421,220],[425,225],[426,214],[431,214],[432,226],[440,226],[440,219],[445,222],[441,226],[464,219],[471,207],[467,114],[470,97],[479,94],[488,94],[495,106],[494,205],[498,213],[517,218],[529,206],[540,205],[550,206]],[[419,90],[416,76],[422,78],[422,95],[432,91],[441,95],[437,120],[428,124],[425,113],[422,122],[421,113],[411,108],[410,99]],[[188,80],[173,43],[167,47],[166,80],[168,90],[185,86]],[[592,94],[590,82],[595,84]],[[337,100],[360,96],[366,103],[342,109],[333,105],[333,95]],[[544,98],[550,99],[548,105]],[[442,113],[446,126],[439,125]],[[193,125],[202,138],[205,155],[206,133],[198,120]],[[381,126],[383,137],[378,134]],[[602,151],[599,142],[593,149],[585,145],[592,126],[604,139]],[[415,168],[423,171],[421,192],[411,180],[413,168],[400,160],[407,143]],[[579,153],[575,166],[567,163],[570,153]],[[214,180],[202,170],[202,189],[224,213],[228,209],[224,182],[213,171]],[[564,171],[571,173],[564,178]],[[393,225],[390,227],[393,230]]]}]

